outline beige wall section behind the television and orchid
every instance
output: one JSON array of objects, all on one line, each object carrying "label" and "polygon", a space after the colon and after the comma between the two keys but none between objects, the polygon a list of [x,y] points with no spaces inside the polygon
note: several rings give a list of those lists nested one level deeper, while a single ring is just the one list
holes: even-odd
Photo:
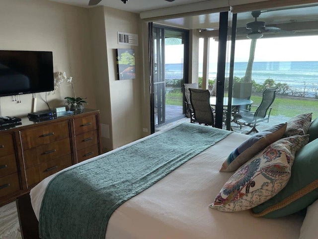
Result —
[{"label": "beige wall section behind the television and orchid", "polygon": [[[0,49],[52,51],[54,72],[65,71],[75,81],[76,94],[87,97],[86,107],[96,108],[91,69],[88,11],[46,0],[0,1]],[[52,109],[72,96],[66,82],[47,93]],[[37,110],[48,110],[45,93],[36,93]],[[21,103],[1,97],[2,116],[26,116],[32,110],[32,94],[21,95]]]}]

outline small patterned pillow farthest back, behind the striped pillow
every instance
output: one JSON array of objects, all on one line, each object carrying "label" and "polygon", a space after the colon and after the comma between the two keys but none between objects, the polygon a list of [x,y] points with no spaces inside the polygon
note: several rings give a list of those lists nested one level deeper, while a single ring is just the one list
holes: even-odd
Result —
[{"label": "small patterned pillow farthest back, behind the striped pillow", "polygon": [[308,133],[313,113],[300,114],[287,121],[287,128],[284,133],[285,137],[293,135],[304,135]]}]

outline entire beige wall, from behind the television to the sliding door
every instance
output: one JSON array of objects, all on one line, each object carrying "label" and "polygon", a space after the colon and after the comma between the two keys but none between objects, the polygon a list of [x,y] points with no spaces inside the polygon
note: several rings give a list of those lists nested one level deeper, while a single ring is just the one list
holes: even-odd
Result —
[{"label": "entire beige wall, from behind the television to the sliding door", "polygon": [[[0,50],[52,51],[54,72],[73,76],[77,96],[87,98],[85,107],[100,110],[106,150],[142,137],[143,57],[138,14],[48,0],[1,0],[0,21]],[[118,45],[117,31],[138,34],[140,45]],[[117,80],[117,48],[135,49],[136,79]],[[46,94],[35,96],[37,111],[48,110]],[[64,106],[66,96],[72,96],[66,82],[59,90],[48,92],[51,109]],[[21,103],[12,101],[12,96],[1,97],[1,115],[25,117],[32,111],[32,97],[21,95]]]}]

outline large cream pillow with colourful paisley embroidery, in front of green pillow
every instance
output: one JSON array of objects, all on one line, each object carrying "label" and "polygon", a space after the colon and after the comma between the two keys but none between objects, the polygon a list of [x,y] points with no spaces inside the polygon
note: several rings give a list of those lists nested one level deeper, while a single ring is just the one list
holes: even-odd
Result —
[{"label": "large cream pillow with colourful paisley embroidery, in front of green pillow", "polygon": [[309,134],[282,138],[243,164],[225,183],[211,208],[236,212],[253,208],[282,190],[290,176],[295,153]]}]

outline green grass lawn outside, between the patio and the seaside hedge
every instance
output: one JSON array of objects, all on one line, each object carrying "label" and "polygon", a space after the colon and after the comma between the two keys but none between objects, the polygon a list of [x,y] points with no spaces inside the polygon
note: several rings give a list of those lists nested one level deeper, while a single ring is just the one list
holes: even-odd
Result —
[{"label": "green grass lawn outside, between the patio and the seaside hedge", "polygon": [[[262,96],[251,96],[253,105],[259,106]],[[166,104],[174,106],[182,106],[182,92],[172,91],[166,94]],[[272,104],[272,116],[293,117],[302,113],[313,113],[313,119],[318,117],[318,100],[289,98],[277,96]]]}]

